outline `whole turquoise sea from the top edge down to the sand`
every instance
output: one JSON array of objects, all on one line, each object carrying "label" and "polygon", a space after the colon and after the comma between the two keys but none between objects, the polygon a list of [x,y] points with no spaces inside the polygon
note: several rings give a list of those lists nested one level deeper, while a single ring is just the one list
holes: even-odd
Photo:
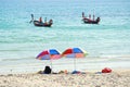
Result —
[{"label": "whole turquoise sea from the top edge down to the sand", "polygon": [[[100,16],[100,24],[83,24],[82,12]],[[36,27],[29,24],[30,14],[54,24]],[[73,47],[88,52],[76,60],[76,70],[130,69],[130,0],[1,0],[1,74],[43,70],[50,61],[35,59],[42,50]],[[53,60],[52,66],[72,71],[74,60]]]}]

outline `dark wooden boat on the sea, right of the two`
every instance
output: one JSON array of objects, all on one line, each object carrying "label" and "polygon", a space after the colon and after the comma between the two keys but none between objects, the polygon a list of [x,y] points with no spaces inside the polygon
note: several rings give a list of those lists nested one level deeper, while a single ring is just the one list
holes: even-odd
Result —
[{"label": "dark wooden boat on the sea, right of the two", "polygon": [[[91,15],[89,15],[89,16],[91,17]],[[100,17],[96,17],[96,20],[94,20],[94,15],[93,15],[93,20],[88,18],[88,17],[84,16],[84,13],[82,12],[82,21],[83,21],[83,23],[86,23],[86,24],[99,24],[100,21],[101,21],[101,18],[100,18]]]}]

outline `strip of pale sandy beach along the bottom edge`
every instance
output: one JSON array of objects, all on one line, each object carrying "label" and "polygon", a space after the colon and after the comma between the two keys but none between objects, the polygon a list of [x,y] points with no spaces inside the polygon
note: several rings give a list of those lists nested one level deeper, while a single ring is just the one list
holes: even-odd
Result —
[{"label": "strip of pale sandy beach along the bottom edge", "polygon": [[129,87],[130,70],[86,74],[0,75],[0,87]]}]

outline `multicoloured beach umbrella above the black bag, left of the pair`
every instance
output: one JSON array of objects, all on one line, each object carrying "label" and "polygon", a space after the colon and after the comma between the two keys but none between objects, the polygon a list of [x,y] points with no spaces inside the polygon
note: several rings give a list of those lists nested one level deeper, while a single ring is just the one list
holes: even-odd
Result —
[{"label": "multicoloured beach umbrella above the black bag, left of the pair", "polygon": [[56,49],[43,50],[36,57],[36,59],[39,60],[50,60],[51,67],[52,67],[52,60],[57,60],[60,58],[61,58],[61,53]]}]

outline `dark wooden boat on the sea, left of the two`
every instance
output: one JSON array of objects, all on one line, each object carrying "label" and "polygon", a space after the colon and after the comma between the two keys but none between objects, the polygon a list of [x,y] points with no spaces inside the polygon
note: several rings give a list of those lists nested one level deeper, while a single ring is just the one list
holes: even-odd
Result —
[{"label": "dark wooden boat on the sea, left of the two", "polygon": [[[40,17],[41,20],[41,17]],[[51,25],[53,24],[53,21],[50,20],[49,22],[47,22],[47,20],[44,22],[42,21],[36,21],[34,20],[34,14],[31,14],[31,21],[29,23],[34,23],[35,26],[39,26],[39,27],[51,27]]]}]

